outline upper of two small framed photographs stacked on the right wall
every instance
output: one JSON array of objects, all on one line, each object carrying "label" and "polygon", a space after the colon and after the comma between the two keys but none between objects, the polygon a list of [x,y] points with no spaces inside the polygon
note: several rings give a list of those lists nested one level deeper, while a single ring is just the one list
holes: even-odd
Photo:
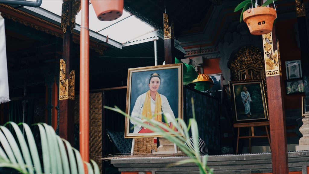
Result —
[{"label": "upper of two small framed photographs stacked on the right wall", "polygon": [[286,61],[286,79],[297,79],[302,77],[300,60]]}]

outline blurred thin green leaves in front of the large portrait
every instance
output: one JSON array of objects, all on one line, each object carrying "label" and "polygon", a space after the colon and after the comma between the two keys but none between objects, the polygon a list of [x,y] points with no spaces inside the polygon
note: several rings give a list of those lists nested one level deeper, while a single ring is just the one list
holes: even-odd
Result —
[{"label": "blurred thin green leaves in front of the large portrait", "polygon": [[[193,104],[192,104],[193,105]],[[167,124],[162,124],[159,121],[152,120],[149,118],[146,118],[142,116],[142,120],[140,121],[138,119],[132,118],[130,115],[127,115],[124,111],[119,109],[118,107],[115,106],[113,107],[108,107],[104,106],[104,108],[116,111],[125,117],[129,118],[130,120],[134,120],[136,123],[141,124],[142,127],[148,128],[155,133],[158,133],[160,136],[165,137],[169,141],[173,142],[176,144],[177,147],[180,148],[181,151],[183,151],[185,154],[187,154],[190,158],[189,159],[184,159],[181,161],[178,161],[173,164],[167,165],[167,167],[171,166],[176,166],[176,165],[181,165],[184,163],[195,163],[197,167],[199,168],[199,171],[201,174],[213,174],[213,169],[210,169],[209,167],[206,166],[207,164],[207,155],[203,156],[201,159],[200,151],[198,148],[198,128],[197,128],[197,122],[195,119],[191,118],[189,119],[189,124],[188,126],[185,124],[184,120],[182,119],[169,119],[172,120],[172,124],[179,132],[174,131],[173,128],[169,128]],[[194,112],[193,112],[194,114]],[[171,117],[171,115],[164,115],[165,117]],[[150,123],[150,125],[143,123],[144,121],[147,121]],[[178,121],[178,122],[177,122]],[[193,145],[191,144],[190,137],[189,137],[189,129],[191,128],[191,133],[192,133],[192,138],[193,138]],[[169,132],[164,131],[167,130]],[[185,145],[185,143],[188,145]]]}]

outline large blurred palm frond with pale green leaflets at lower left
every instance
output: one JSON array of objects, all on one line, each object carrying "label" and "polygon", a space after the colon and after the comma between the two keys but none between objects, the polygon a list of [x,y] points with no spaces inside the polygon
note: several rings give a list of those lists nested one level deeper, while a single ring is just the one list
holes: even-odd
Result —
[{"label": "large blurred palm frond with pale green leaflets at lower left", "polygon": [[[15,140],[12,133],[5,125],[11,125],[16,134]],[[23,174],[83,174],[86,163],[89,174],[99,174],[98,165],[91,160],[91,163],[83,162],[78,150],[74,149],[68,141],[56,135],[53,127],[45,124],[35,124],[39,128],[43,163],[40,163],[37,146],[28,124],[7,122],[0,126],[0,167],[13,168]],[[23,135],[19,126],[23,126]],[[25,137],[27,137],[25,139]],[[27,140],[27,141],[26,141]],[[19,148],[20,147],[20,148]]]}]

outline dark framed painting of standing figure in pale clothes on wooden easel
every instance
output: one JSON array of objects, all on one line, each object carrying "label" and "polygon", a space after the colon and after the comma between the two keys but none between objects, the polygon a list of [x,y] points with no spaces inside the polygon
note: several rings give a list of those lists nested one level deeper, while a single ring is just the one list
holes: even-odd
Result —
[{"label": "dark framed painting of standing figure in pale clothes on wooden easel", "polygon": [[264,80],[230,81],[234,123],[269,120]]}]

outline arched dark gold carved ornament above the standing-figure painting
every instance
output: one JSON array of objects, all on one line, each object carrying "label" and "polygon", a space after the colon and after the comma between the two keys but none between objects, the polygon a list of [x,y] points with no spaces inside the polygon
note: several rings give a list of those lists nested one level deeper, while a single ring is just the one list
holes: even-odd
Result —
[{"label": "arched dark gold carved ornament above the standing-figure painting", "polygon": [[246,71],[250,79],[265,79],[263,53],[254,46],[244,46],[229,64],[231,80],[245,80]]}]

